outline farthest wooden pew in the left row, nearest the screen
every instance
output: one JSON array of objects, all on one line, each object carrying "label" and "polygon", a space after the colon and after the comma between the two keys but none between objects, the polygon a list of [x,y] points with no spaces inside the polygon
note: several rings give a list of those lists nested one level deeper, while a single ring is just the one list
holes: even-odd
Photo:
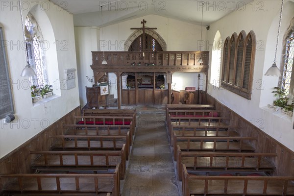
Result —
[{"label": "farthest wooden pew in the left row, nearest the screen", "polygon": [[117,116],[117,117],[132,117],[132,125],[135,130],[136,121],[137,121],[137,113],[136,109],[84,109],[82,111],[83,116]]}]

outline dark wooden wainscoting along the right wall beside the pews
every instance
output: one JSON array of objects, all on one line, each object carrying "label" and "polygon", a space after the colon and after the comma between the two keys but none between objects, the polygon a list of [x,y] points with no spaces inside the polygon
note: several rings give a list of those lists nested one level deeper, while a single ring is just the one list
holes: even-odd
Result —
[{"label": "dark wooden wainscoting along the right wall beside the pews", "polygon": [[[291,149],[285,147],[284,145],[270,137],[257,126],[248,122],[212,96],[207,94],[206,98],[206,104],[214,104],[216,110],[222,111],[222,117],[229,117],[234,119],[234,124],[232,125],[238,127],[237,132],[241,136],[257,138],[257,142],[251,144],[255,147],[255,152],[268,152],[278,154],[277,157],[273,157],[271,160],[276,166],[276,172],[273,172],[274,176],[294,176],[294,152]],[[260,123],[262,123],[262,120],[260,121]]]}]

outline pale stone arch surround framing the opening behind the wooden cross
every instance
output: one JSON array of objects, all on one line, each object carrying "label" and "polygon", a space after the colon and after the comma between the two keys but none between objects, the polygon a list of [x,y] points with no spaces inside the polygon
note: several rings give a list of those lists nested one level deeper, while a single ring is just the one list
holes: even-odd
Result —
[{"label": "pale stone arch surround framing the opening behind the wooden cross", "polygon": [[[147,26],[146,26],[147,27]],[[134,31],[124,42],[124,51],[128,51],[129,47],[131,46],[132,42],[139,37],[143,33],[142,29]],[[146,29],[145,33],[152,36],[161,46],[163,51],[167,51],[167,43],[164,41],[164,39],[154,30],[152,29]]]}]

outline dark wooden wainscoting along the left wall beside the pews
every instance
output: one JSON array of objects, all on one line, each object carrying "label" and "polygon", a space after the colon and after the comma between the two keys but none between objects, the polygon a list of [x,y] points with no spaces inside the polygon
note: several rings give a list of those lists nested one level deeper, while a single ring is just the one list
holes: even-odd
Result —
[{"label": "dark wooden wainscoting along the left wall beside the pews", "polygon": [[0,159],[0,173],[30,173],[30,151],[49,150],[51,141],[49,136],[62,135],[63,124],[73,123],[74,116],[80,116],[80,106],[73,109],[61,119],[52,123],[49,127],[35,135],[23,145],[11,151]]}]

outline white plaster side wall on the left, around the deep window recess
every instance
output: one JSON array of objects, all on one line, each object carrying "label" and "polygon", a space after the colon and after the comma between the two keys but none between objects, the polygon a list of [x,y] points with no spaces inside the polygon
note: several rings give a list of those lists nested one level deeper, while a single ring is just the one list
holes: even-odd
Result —
[{"label": "white plaster side wall on the left, around the deep window recess", "polygon": [[[6,1],[8,6],[1,7],[0,24],[3,27],[4,39],[9,43],[16,44],[24,40],[22,34],[22,24],[20,20],[20,12],[16,1]],[[31,1],[25,1],[30,3]],[[56,63],[58,64],[59,80],[56,81],[54,88],[60,89],[60,97],[55,98],[45,104],[33,107],[30,95],[30,89],[23,86],[28,80],[21,77],[21,71],[25,67],[25,51],[18,48],[7,46],[7,62],[10,70],[10,78],[12,81],[12,94],[14,101],[14,109],[16,119],[12,123],[5,124],[0,121],[0,157],[3,157],[10,151],[19,147],[25,141],[29,140],[42,130],[63,117],[74,108],[79,106],[78,99],[78,80],[76,78],[76,87],[71,90],[64,90],[62,87],[62,79],[64,79],[64,70],[69,68],[76,69],[76,57],[73,33],[73,16],[56,5],[46,0],[38,1],[36,7],[40,9],[43,5],[43,11],[49,18],[55,36],[55,41],[65,41],[66,46],[56,48]],[[28,4],[30,8],[36,1]],[[49,6],[47,6],[49,5]],[[57,10],[57,11],[56,11]],[[25,8],[23,12],[24,18],[29,9]],[[38,18],[36,18],[38,21]],[[38,21],[40,24],[40,22]],[[49,40],[50,41],[50,40]],[[19,46],[19,45],[18,45]],[[50,43],[50,47],[56,47],[54,43]],[[50,56],[47,56],[50,58]],[[53,90],[54,92],[54,90]]]}]

